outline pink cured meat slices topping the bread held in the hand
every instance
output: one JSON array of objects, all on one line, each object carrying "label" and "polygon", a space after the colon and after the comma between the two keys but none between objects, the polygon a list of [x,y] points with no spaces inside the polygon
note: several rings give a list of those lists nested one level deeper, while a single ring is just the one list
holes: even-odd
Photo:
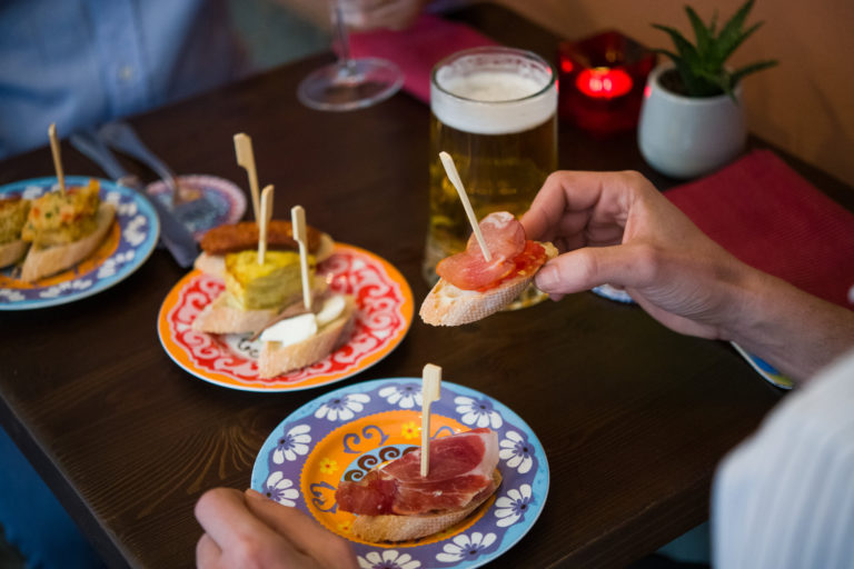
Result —
[{"label": "pink cured meat slices topping the bread held in the hand", "polygon": [[439,261],[436,273],[464,290],[480,290],[513,274],[514,260],[525,251],[522,223],[507,211],[489,213],[479,223],[491,260],[487,261],[473,234],[466,250]]}]

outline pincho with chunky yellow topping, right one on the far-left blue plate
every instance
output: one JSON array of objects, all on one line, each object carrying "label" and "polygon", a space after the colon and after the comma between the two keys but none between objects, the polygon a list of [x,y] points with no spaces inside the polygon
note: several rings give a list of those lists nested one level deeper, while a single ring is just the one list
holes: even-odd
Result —
[{"label": "pincho with chunky yellow topping, right one on the far-left blue plate", "polygon": [[100,183],[49,191],[32,200],[21,239],[30,244],[21,279],[32,282],[89,257],[103,241],[116,208],[98,196]]}]

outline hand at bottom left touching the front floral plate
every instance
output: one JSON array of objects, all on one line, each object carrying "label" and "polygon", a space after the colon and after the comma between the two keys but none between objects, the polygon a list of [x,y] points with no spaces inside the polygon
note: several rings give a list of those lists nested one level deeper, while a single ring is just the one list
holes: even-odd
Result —
[{"label": "hand at bottom left touching the front floral plate", "polygon": [[201,569],[357,567],[347,541],[255,490],[208,490],[196,502],[196,519],[205,529],[196,546]]}]

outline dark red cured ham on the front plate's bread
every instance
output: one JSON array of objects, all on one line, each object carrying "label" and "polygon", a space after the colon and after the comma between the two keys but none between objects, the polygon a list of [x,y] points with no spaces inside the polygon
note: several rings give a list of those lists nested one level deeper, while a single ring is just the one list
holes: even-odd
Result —
[{"label": "dark red cured ham on the front plate's bread", "polygon": [[495,490],[498,436],[475,429],[430,442],[430,470],[420,476],[420,449],[371,470],[358,482],[342,481],[338,507],[368,516],[413,516],[455,510]]}]

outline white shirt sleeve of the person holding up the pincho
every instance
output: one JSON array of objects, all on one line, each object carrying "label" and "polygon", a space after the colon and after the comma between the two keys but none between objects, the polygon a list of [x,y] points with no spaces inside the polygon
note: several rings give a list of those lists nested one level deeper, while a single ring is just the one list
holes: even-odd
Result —
[{"label": "white shirt sleeve of the person holding up the pincho", "polygon": [[724,459],[712,539],[716,569],[854,567],[854,353]]}]

